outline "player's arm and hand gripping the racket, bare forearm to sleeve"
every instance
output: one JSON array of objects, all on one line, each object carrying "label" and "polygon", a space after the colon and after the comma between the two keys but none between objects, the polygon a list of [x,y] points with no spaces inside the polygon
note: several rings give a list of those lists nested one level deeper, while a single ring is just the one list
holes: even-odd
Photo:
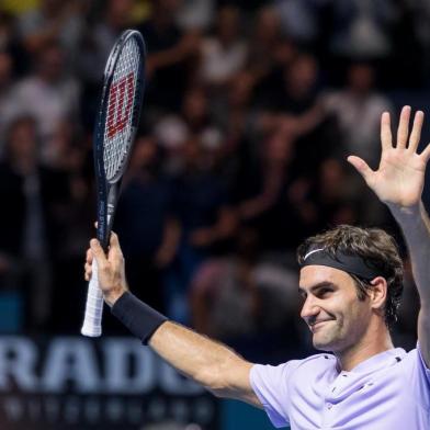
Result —
[{"label": "player's arm and hand gripping the racket, bare forearm to sleeve", "polygon": [[[87,280],[91,278],[93,258],[98,262],[99,282],[104,299],[115,310],[115,304],[118,306],[121,302],[129,298],[124,274],[124,258],[117,236],[115,234],[111,235],[108,258],[98,240],[91,240],[91,248],[87,251]],[[136,310],[140,314],[152,312],[135,298],[133,303],[133,313],[136,313]],[[148,318],[150,318],[150,314],[148,315]],[[219,342],[176,322],[163,320],[155,312],[154,315],[156,329],[148,336],[147,341],[148,346],[158,355],[218,397],[235,398],[262,407],[249,382],[251,363]],[[129,317],[136,320],[142,315],[131,315]],[[140,320],[145,318],[140,318]],[[158,324],[157,318],[159,318]],[[125,319],[129,319],[128,316]]]}]

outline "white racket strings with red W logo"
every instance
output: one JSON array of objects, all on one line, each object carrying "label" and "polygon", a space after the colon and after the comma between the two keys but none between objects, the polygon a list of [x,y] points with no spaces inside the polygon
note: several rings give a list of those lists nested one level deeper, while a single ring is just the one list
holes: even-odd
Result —
[{"label": "white racket strings with red W logo", "polygon": [[132,145],[134,103],[140,52],[132,37],[124,45],[109,92],[106,126],[104,129],[104,170],[108,181],[123,169]]}]

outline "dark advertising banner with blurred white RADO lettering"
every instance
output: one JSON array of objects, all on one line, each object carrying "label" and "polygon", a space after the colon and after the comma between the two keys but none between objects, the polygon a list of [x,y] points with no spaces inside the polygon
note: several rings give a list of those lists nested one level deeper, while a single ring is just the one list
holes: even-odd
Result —
[{"label": "dark advertising banner with blurred white RADO lettering", "polygon": [[218,409],[132,338],[0,337],[1,430],[215,430]]}]

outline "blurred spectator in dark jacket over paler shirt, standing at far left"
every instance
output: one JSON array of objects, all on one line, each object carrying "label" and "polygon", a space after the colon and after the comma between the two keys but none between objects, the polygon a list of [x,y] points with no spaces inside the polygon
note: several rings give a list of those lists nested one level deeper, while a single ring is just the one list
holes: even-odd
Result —
[{"label": "blurred spectator in dark jacket over paler shirt, standing at far left", "polygon": [[0,166],[2,208],[0,249],[5,270],[19,270],[20,285],[27,288],[29,327],[44,327],[52,306],[50,264],[58,249],[58,212],[68,199],[67,176],[41,166],[36,122],[16,118],[7,134],[7,151]]}]

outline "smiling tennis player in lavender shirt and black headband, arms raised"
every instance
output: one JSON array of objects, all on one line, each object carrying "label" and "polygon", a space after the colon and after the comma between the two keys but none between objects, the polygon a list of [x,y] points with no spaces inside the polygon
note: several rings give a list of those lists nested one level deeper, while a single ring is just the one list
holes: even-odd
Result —
[{"label": "smiling tennis player in lavender shirt and black headband, arms raised", "polygon": [[376,171],[348,161],[391,210],[405,235],[420,295],[417,348],[394,348],[403,267],[394,239],[380,229],[340,226],[298,249],[302,318],[316,349],[327,351],[278,366],[252,364],[227,347],[168,320],[127,291],[118,239],[95,258],[105,302],[144,343],[180,372],[220,397],[264,408],[275,427],[292,429],[430,429],[430,219],[421,203],[430,145],[417,152],[423,113],[409,134],[410,108],[393,144],[389,114],[381,121]]}]

